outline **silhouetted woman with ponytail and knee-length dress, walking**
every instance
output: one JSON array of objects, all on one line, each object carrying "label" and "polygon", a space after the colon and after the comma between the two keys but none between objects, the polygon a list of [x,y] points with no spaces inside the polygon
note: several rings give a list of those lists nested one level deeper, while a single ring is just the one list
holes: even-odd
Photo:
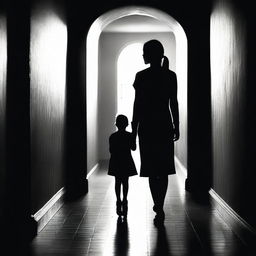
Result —
[{"label": "silhouetted woman with ponytail and knee-length dress, walking", "polygon": [[165,219],[163,207],[168,175],[176,173],[174,141],[180,136],[177,78],[169,70],[168,58],[158,40],[144,44],[143,58],[150,67],[135,76],[132,134],[133,143],[137,134],[139,137],[140,176],[149,177],[157,225]]}]

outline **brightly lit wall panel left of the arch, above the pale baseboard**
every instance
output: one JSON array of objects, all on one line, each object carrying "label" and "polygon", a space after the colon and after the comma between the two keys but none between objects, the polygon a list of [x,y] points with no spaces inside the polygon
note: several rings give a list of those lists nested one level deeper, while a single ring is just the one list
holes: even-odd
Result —
[{"label": "brightly lit wall panel left of the arch, above the pale baseboard", "polygon": [[34,212],[64,184],[67,29],[60,16],[61,11],[49,3],[36,6],[31,18],[31,183]]}]

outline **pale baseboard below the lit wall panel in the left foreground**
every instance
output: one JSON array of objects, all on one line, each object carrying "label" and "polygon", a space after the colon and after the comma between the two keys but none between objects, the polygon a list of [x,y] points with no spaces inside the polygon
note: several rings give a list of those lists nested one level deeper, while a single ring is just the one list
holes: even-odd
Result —
[{"label": "pale baseboard below the lit wall panel in the left foreground", "polygon": [[64,203],[65,189],[61,188],[39,211],[31,215],[37,222],[37,233],[50,221]]}]

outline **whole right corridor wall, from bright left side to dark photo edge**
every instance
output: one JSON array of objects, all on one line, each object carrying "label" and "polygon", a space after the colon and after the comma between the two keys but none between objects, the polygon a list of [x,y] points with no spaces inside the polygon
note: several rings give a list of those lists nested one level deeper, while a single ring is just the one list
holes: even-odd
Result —
[{"label": "whole right corridor wall, from bright left side to dark photo edge", "polygon": [[212,188],[255,227],[255,19],[249,9],[215,1],[211,15]]}]

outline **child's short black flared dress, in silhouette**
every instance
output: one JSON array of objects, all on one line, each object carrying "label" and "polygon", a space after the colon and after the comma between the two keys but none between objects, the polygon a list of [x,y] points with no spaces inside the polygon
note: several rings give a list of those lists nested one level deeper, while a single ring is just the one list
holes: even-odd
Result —
[{"label": "child's short black flared dress, in silhouette", "polygon": [[132,134],[117,131],[109,137],[110,160],[108,175],[119,178],[137,175],[132,155]]}]

